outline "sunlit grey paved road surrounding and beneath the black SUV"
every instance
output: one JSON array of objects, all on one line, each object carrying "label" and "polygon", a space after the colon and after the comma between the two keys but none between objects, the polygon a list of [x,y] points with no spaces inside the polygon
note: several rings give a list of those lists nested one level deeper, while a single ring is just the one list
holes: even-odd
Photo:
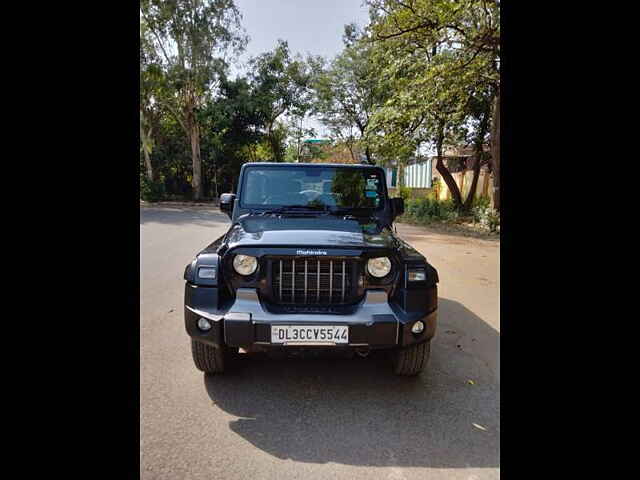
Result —
[{"label": "sunlit grey paved road surrounding and beneath the black SUV", "polygon": [[184,331],[182,273],[228,223],[207,208],[140,209],[143,479],[499,478],[499,243],[399,226],[441,280],[417,379],[378,357],[258,357],[205,376]]}]

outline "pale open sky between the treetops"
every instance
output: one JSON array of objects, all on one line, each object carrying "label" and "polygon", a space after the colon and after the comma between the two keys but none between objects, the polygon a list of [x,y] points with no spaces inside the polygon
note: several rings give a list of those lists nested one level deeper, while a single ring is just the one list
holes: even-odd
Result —
[{"label": "pale open sky between the treetops", "polygon": [[[362,0],[235,0],[242,14],[242,26],[249,43],[240,62],[273,50],[278,39],[286,40],[293,55],[333,57],[342,50],[344,25],[368,21]],[[232,66],[238,72],[237,66]],[[306,122],[323,136],[324,129],[315,119]]]}]

